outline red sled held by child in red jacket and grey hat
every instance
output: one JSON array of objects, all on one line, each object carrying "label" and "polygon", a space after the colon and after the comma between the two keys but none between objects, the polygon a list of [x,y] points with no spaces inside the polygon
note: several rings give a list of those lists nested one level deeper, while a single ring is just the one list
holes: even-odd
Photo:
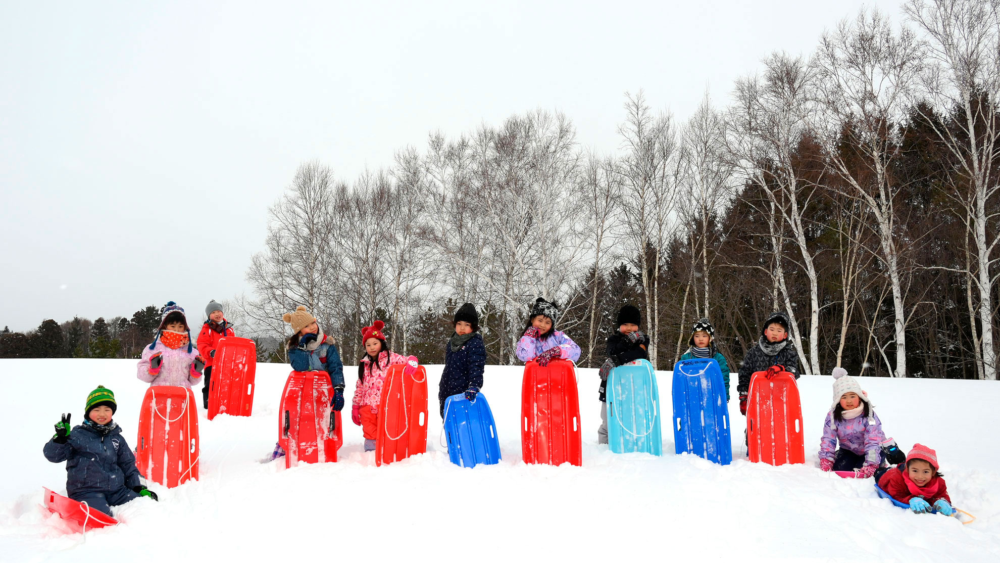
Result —
[{"label": "red sled held by child in red jacket and grey hat", "polygon": [[235,336],[220,338],[212,360],[208,419],[220,413],[250,416],[256,372],[257,345],[253,340]]}]

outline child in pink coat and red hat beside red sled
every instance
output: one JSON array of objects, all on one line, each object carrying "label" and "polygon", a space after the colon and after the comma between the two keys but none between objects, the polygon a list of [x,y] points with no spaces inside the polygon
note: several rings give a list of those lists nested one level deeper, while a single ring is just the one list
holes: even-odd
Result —
[{"label": "child in pink coat and red hat beside red sled", "polygon": [[385,323],[375,321],[361,331],[365,355],[358,361],[358,385],[354,388],[351,420],[361,427],[365,437],[365,451],[375,449],[378,432],[378,406],[382,400],[382,383],[393,364],[405,364],[406,357],[389,349],[382,329]]}]

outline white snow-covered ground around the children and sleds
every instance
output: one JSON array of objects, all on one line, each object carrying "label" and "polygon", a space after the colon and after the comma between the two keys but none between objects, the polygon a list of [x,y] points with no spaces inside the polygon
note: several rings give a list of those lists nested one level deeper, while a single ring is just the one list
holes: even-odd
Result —
[{"label": "white snow-covered ground around the children and sleds", "polygon": [[[583,467],[526,465],[518,418],[520,367],[488,366],[483,390],[494,409],[503,461],[462,469],[438,442],[437,378],[431,385],[428,453],[375,467],[361,430],[345,427],[341,461],[286,470],[260,463],[277,435],[286,365],[258,366],[252,417],[204,418],[201,479],[153,485],[159,503],[120,507],[122,524],[68,533],[41,506],[43,486],[65,492],[65,464],[42,445],[63,412],[82,419],[86,394],[114,390],[115,420],[134,446],[146,384],[132,360],[0,360],[0,412],[8,438],[0,469],[0,561],[617,561],[772,558],[824,561],[1000,560],[1000,384],[861,378],[886,433],[908,450],[937,449],[954,504],[978,516],[914,515],[875,496],[871,480],[815,467],[829,376],[800,382],[807,464],[746,461],[733,433],[732,465],[673,454],[616,455],[596,443],[596,370],[580,369]],[[348,397],[353,392],[347,368]],[[660,372],[670,405],[670,374]],[[733,387],[735,389],[735,376]],[[200,389],[196,396],[201,398]],[[669,408],[669,407],[668,407]],[[730,402],[737,426],[737,401]],[[345,418],[345,420],[347,420]]]}]

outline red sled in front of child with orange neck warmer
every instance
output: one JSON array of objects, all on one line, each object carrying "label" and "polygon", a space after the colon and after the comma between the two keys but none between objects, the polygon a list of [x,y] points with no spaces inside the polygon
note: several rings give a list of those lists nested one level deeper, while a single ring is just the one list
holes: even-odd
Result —
[{"label": "red sled in front of child with orange neck warmer", "polygon": [[198,403],[187,387],[146,390],[139,411],[135,464],[146,479],[176,487],[198,478]]}]

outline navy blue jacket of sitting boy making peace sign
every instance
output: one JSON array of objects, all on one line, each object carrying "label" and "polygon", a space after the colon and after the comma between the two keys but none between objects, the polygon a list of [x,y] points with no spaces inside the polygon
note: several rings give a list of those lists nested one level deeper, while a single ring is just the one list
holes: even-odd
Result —
[{"label": "navy blue jacket of sitting boy making peace sign", "polygon": [[105,436],[89,425],[78,424],[65,444],[49,440],[42,452],[53,463],[66,462],[66,490],[70,498],[87,493],[112,493],[140,484],[135,455],[117,424]]}]

